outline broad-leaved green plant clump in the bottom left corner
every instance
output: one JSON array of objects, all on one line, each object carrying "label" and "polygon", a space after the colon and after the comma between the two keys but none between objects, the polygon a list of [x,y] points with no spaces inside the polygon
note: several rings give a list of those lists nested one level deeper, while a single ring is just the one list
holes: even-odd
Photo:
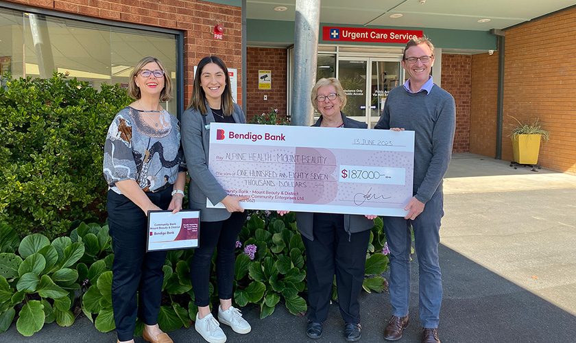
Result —
[{"label": "broad-leaved green plant clump in the bottom left corner", "polygon": [[[39,233],[19,242],[7,225],[0,226],[0,237],[0,332],[8,329],[18,305],[22,306],[16,329],[22,335],[31,336],[54,320],[62,327],[73,324],[70,309],[80,285],[78,272],[71,266],[84,255],[84,245],[68,237],[50,244]],[[8,252],[16,248],[19,255]]]}]

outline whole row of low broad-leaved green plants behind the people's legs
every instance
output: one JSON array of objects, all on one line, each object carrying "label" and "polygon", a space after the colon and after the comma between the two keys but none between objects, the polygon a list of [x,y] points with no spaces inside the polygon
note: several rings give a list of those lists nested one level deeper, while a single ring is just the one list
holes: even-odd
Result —
[{"label": "whole row of low broad-leaved green plants behind the people's legs", "polygon": [[[234,305],[259,307],[260,318],[285,306],[291,314],[307,311],[306,257],[293,213],[280,217],[250,211],[236,251]],[[380,276],[388,258],[381,251],[385,237],[376,218],[366,252],[363,288],[383,292]],[[22,240],[10,226],[0,224],[0,333],[16,320],[22,335],[33,335],[45,323],[73,324],[80,307],[96,329],[115,329],[112,311],[112,248],[107,224],[81,223],[67,237],[49,241],[38,233]],[[194,250],[168,252],[164,270],[163,303],[158,324],[164,331],[190,327],[197,314],[190,263]],[[210,281],[211,303],[218,303],[215,263]],[[335,285],[333,299],[337,300]],[[143,323],[136,321],[135,335]]]}]

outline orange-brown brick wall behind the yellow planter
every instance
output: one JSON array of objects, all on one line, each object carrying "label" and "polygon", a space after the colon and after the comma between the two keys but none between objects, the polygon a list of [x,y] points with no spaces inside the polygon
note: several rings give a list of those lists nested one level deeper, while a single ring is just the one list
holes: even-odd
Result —
[{"label": "orange-brown brick wall behind the yellow planter", "polygon": [[540,118],[550,141],[540,147],[543,167],[576,174],[576,8],[506,31],[502,158],[512,160],[508,134]]}]

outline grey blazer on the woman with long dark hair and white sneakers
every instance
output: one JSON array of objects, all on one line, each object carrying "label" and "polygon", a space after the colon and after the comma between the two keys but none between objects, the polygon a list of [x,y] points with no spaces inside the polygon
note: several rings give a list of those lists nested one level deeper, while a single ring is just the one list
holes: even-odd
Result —
[{"label": "grey blazer on the woman with long dark hair and white sneakers", "polygon": [[[190,209],[200,209],[202,222],[218,222],[227,220],[230,212],[226,209],[207,209],[206,198],[217,204],[226,198],[226,191],[208,169],[208,150],[210,143],[210,124],[215,122],[208,102],[207,113],[189,108],[182,113],[182,147],[188,165],[190,183],[188,199]],[[246,123],[242,108],[234,104],[232,118],[236,123]]]}]

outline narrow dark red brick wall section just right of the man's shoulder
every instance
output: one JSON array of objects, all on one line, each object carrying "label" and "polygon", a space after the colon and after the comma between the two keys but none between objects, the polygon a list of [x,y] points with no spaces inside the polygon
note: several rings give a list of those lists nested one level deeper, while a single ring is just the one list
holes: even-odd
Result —
[{"label": "narrow dark red brick wall section just right of the man's shoulder", "polygon": [[470,88],[472,56],[442,54],[442,88],[456,102],[456,133],[453,152],[470,151]]}]

